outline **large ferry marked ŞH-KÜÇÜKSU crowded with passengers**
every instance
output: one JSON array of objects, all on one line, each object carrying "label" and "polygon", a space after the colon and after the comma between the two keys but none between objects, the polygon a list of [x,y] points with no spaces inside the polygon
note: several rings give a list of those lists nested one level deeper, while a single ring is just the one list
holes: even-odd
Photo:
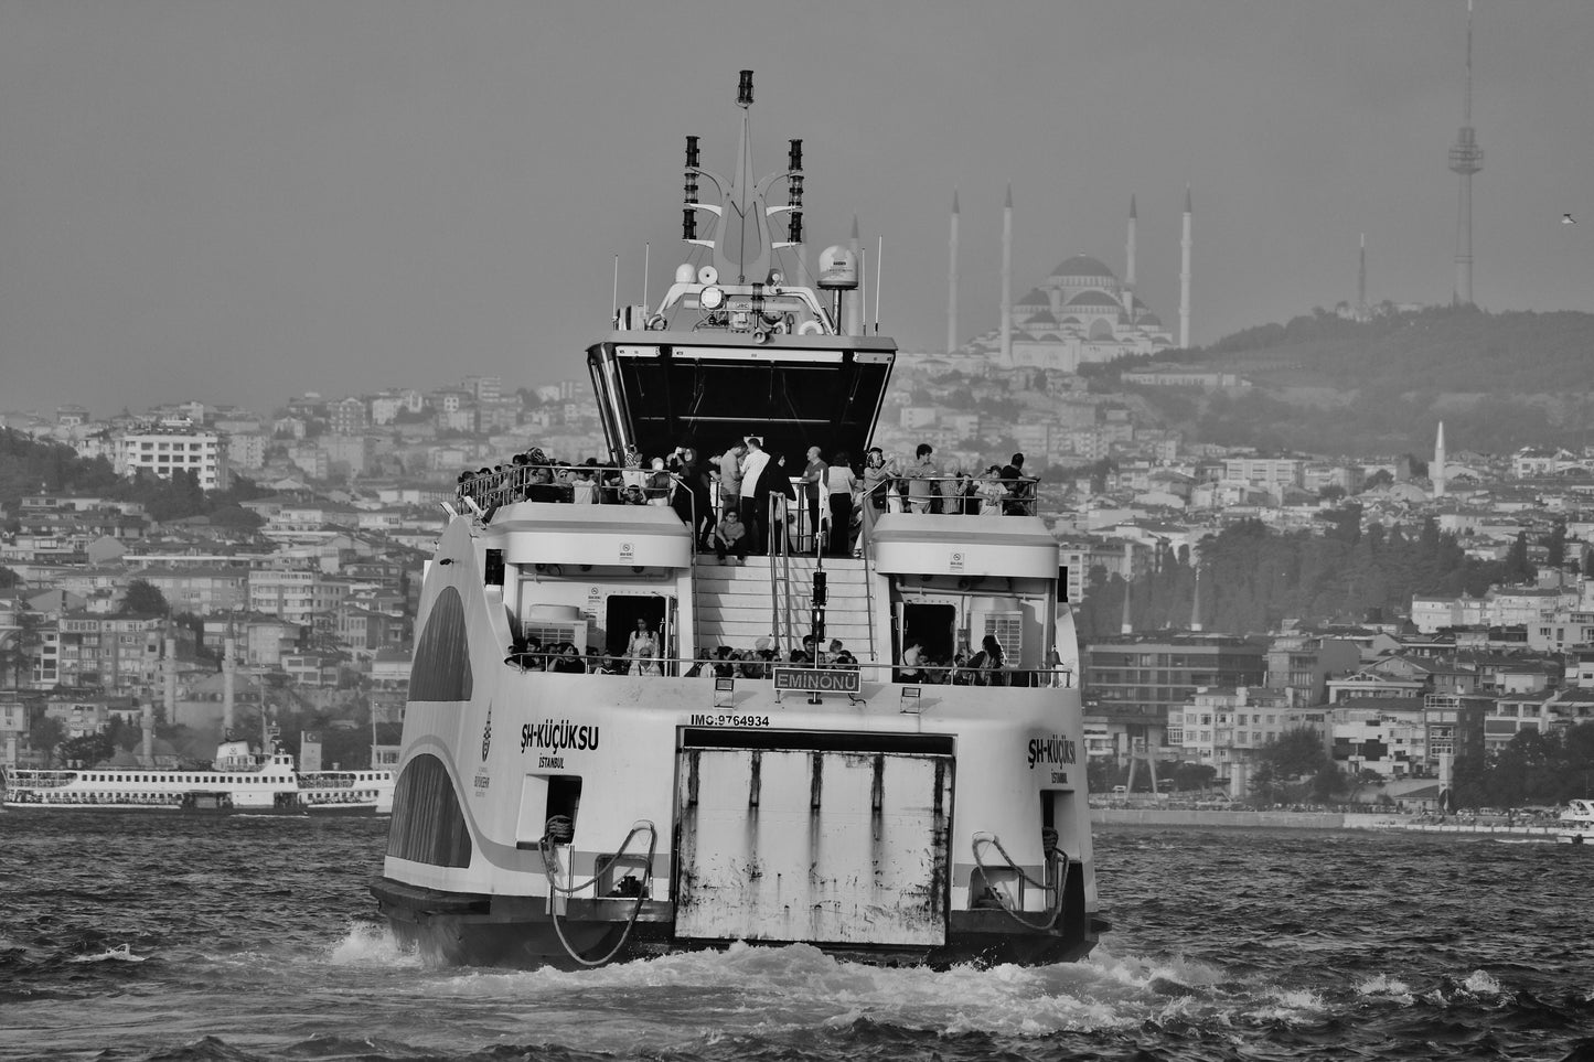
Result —
[{"label": "large ferry marked \u015eH-K\u00dc\u00c7\u00dcKSU crowded with passengers", "polygon": [[[783,276],[802,142],[754,182],[751,72],[736,102],[730,177],[687,137],[698,262],[587,351],[612,469],[534,448],[443,504],[371,893],[443,965],[738,941],[891,965],[1079,960],[1108,925],[1058,545],[1023,483],[990,518],[888,505],[899,483],[866,480],[856,550],[787,491],[810,446],[869,450],[896,344],[843,324],[853,249],[826,249],[810,282]],[[720,561],[700,549],[719,499],[685,474],[660,491],[674,504],[644,498],[660,474],[642,461],[744,440],[771,472],[749,458],[736,502],[771,534]]]}]

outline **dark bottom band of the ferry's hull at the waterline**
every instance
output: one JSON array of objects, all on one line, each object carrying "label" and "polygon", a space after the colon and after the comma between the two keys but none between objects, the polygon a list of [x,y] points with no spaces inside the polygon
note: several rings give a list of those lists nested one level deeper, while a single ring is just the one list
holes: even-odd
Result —
[{"label": "dark bottom band of the ferry's hull at the waterline", "polygon": [[[628,962],[677,952],[722,950],[732,944],[725,939],[677,938],[671,904],[660,901],[644,901],[634,925],[634,901],[571,901],[567,914],[555,926],[547,914],[547,901],[540,898],[505,901],[416,888],[387,879],[375,882],[371,891],[395,941],[432,965],[580,970],[598,960]],[[746,942],[768,947],[800,942],[848,962],[885,966],[1039,966],[1086,958],[1105,928],[1100,920],[1081,920],[1060,931],[1035,931],[1015,928],[1003,911],[961,911],[948,912],[945,944],[939,946],[779,939]],[[587,962],[579,962],[572,952]]]}]

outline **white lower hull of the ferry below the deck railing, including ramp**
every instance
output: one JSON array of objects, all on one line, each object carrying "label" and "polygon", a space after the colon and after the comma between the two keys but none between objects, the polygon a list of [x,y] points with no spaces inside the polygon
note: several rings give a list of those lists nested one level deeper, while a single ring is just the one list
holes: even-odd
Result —
[{"label": "white lower hull of the ferry below the deck railing, including ramp", "polygon": [[[469,520],[438,557],[411,678],[434,698],[408,705],[371,885],[426,958],[574,968],[749,941],[1033,965],[1082,958],[1106,928],[1078,689],[910,702],[862,681],[813,705],[768,681],[523,673]],[[574,836],[550,840],[564,812]]]}]

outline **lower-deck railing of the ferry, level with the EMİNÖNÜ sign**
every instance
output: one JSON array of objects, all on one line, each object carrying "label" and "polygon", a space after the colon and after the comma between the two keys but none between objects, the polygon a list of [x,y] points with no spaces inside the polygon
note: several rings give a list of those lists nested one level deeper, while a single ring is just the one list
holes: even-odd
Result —
[{"label": "lower-deck railing of the ferry, level with the EM\u0130N\u00d6N\u00dc sign", "polygon": [[[518,671],[548,671],[564,675],[644,675],[682,678],[733,678],[746,681],[773,681],[775,668],[802,668],[811,671],[856,671],[859,681],[896,682],[902,686],[1011,686],[1019,689],[1060,687],[1073,689],[1076,675],[1071,668],[980,668],[958,663],[838,663],[824,660],[781,660],[775,655],[757,655],[757,651],[732,651],[733,655],[698,657],[639,657],[618,654],[559,654],[544,649],[510,652],[504,663]],[[705,668],[708,671],[705,673]]]}]

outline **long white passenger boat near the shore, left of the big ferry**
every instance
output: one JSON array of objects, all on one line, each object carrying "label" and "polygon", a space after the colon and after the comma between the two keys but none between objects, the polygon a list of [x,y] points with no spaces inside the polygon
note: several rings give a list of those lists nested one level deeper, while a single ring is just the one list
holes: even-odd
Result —
[{"label": "long white passenger boat near the shore, left of the big ferry", "polygon": [[16,812],[186,812],[202,815],[386,815],[391,770],[308,772],[284,751],[223,741],[209,769],[27,769],[0,777],[3,807]]}]

